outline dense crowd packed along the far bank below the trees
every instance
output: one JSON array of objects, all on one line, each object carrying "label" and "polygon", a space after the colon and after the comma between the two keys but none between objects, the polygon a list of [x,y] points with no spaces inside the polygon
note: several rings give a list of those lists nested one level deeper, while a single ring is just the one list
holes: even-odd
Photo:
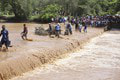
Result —
[{"label": "dense crowd packed along the far bank below the trees", "polygon": [[53,22],[65,23],[70,22],[72,25],[74,24],[86,24],[92,27],[103,27],[108,23],[120,23],[120,16],[86,16],[86,17],[57,17],[52,18]]}]

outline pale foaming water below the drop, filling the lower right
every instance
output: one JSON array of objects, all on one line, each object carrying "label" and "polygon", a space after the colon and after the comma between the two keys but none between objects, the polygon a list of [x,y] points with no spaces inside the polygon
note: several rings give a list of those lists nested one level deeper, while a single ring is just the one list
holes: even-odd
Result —
[{"label": "pale foaming water below the drop, filling the lower right", "polygon": [[120,31],[104,33],[67,58],[12,80],[120,80]]}]

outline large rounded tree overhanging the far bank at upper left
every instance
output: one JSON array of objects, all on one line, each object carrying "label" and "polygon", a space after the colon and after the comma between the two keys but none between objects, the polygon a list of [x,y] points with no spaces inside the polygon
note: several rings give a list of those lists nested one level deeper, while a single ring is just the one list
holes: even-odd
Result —
[{"label": "large rounded tree overhanging the far bank at upper left", "polygon": [[17,19],[26,20],[30,17],[32,11],[30,0],[9,0],[9,3]]}]

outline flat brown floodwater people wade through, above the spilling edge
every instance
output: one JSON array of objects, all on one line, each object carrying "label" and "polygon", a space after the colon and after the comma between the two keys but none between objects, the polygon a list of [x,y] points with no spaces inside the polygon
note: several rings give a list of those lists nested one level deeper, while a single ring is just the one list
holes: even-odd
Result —
[{"label": "flat brown floodwater people wade through, above the spilling edge", "polygon": [[[23,31],[23,24],[26,24],[28,27],[28,39],[32,39],[33,41],[24,41],[21,38],[21,32]],[[15,59],[20,56],[25,56],[29,54],[38,53],[44,49],[52,49],[56,47],[62,47],[66,42],[71,42],[70,40],[74,40],[79,37],[84,37],[91,35],[89,33],[95,33],[98,29],[90,28],[88,34],[79,34],[78,32],[69,37],[63,36],[63,39],[58,38],[49,38],[49,36],[38,36],[35,35],[35,27],[43,27],[45,29],[48,28],[48,24],[37,24],[37,23],[0,23],[0,31],[1,26],[5,25],[7,30],[9,31],[9,38],[12,44],[12,48],[9,48],[8,52],[0,51],[0,62],[10,59]],[[53,24],[55,25],[55,24]],[[65,26],[62,25],[62,33],[64,33]],[[0,37],[1,39],[1,37]],[[70,39],[70,40],[69,40]],[[61,42],[61,43],[60,43]],[[56,46],[57,44],[57,46]]]}]

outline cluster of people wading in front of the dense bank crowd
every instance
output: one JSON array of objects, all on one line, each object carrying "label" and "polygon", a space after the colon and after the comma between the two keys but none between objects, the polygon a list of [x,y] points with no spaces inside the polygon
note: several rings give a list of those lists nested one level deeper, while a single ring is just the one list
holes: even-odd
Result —
[{"label": "cluster of people wading in front of the dense bank crowd", "polygon": [[[63,22],[65,25],[65,32],[64,35],[72,35],[73,34],[73,26],[75,26],[75,31],[79,31],[82,32],[82,30],[87,33],[87,27],[88,24],[86,24],[85,22],[80,23],[79,21],[75,21],[74,23],[72,23],[72,21],[68,21],[67,19],[64,18],[60,18],[63,20]],[[62,21],[60,20],[60,21]],[[59,35],[61,34],[61,25],[59,20],[56,22],[54,22],[56,25],[53,26],[53,23],[49,23],[49,35],[51,36],[52,34],[54,34],[57,37],[60,37]]]}]

